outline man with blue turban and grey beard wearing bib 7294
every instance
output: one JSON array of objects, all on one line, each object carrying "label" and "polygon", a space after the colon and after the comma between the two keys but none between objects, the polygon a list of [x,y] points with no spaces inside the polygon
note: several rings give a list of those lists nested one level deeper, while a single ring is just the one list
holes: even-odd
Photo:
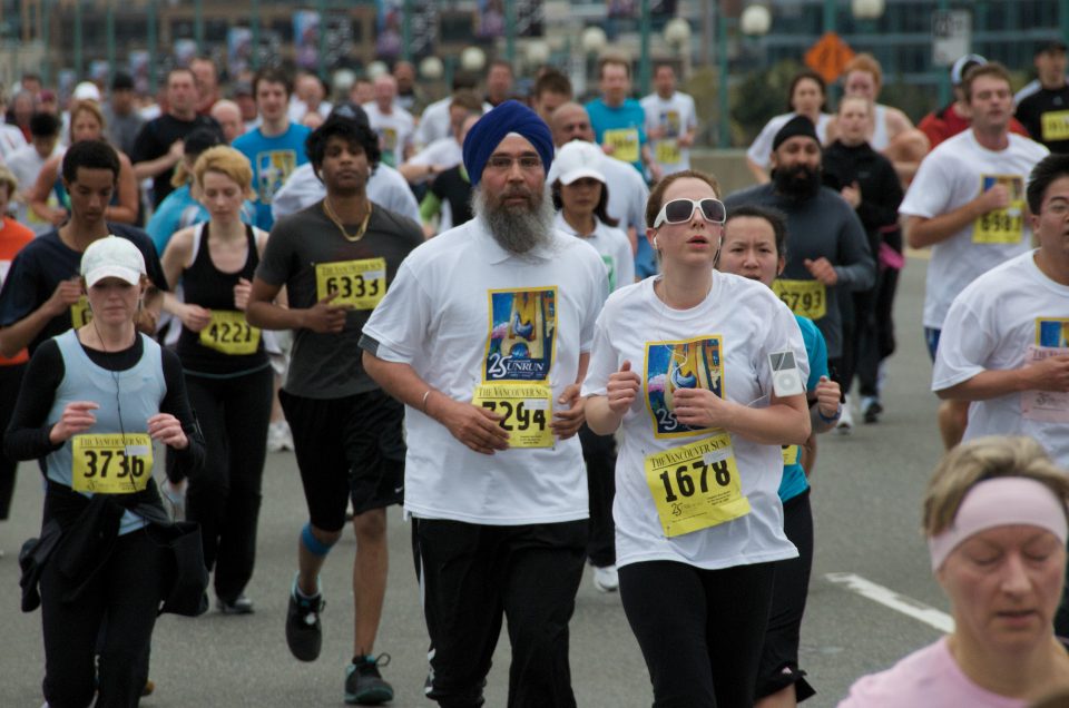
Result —
[{"label": "man with blue turban and grey beard wearing bib 7294", "polygon": [[568,622],[588,517],[579,384],[608,292],[553,228],[549,127],[516,101],[464,140],[475,217],[404,260],[364,326],[364,367],[405,409],[431,688],[481,706],[509,621],[509,706],[571,707]]}]

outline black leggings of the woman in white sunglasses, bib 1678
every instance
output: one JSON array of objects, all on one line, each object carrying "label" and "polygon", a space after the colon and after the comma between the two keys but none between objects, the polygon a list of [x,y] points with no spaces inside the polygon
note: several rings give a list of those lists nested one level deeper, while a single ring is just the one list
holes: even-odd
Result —
[{"label": "black leggings of the woman in white sunglasses, bib 1678", "polygon": [[620,598],[654,685],[654,708],[754,704],[774,563],[620,568]]}]

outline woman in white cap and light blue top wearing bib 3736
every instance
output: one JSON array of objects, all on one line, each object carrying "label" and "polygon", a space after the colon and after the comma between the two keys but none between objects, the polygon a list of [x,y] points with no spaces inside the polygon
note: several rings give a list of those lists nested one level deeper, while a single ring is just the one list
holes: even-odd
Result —
[{"label": "woman in white cap and light blue top wearing bib 3736", "polygon": [[[86,249],[92,319],[33,353],[4,440],[13,458],[40,459],[47,480],[41,540],[26,560],[39,569],[51,706],[88,706],[95,692],[97,706],[137,706],[173,574],[159,535],[168,521],[153,481],[154,443],[187,468],[204,462],[178,357],[134,325],[145,272],[125,238]],[[23,609],[33,609],[28,594],[38,583],[23,583]]]}]

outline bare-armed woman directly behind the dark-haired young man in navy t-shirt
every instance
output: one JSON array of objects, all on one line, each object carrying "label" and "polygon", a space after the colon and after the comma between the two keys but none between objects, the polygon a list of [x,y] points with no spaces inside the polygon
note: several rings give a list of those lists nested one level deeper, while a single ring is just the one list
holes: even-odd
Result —
[{"label": "bare-armed woman directly behind the dark-haired young man in navy t-shirt", "polygon": [[[70,145],[82,140],[107,141],[106,127],[104,112],[95,101],[75,101],[70,107]],[[119,155],[119,176],[105,218],[117,224],[134,224],[137,222],[140,198],[137,178],[134,176],[130,158],[118,148],[115,151]],[[26,194],[26,200],[33,213],[55,226],[63,224],[70,215],[70,199],[60,179],[63,154],[63,150],[60,150],[41,166],[37,183]]]}]

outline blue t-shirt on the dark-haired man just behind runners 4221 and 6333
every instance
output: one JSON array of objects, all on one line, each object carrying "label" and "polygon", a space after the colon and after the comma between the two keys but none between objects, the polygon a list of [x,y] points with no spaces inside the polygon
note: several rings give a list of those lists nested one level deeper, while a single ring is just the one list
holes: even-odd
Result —
[{"label": "blue t-shirt on the dark-haired man just behind runners 4221 and 6333", "polygon": [[293,170],[308,161],[304,141],[311,132],[307,126],[291,122],[285,132],[273,138],[264,137],[261,128],[256,128],[234,140],[234,148],[253,164],[253,190],[257,198],[255,225],[265,232],[275,223],[271,214],[275,193],[282,189]]}]

